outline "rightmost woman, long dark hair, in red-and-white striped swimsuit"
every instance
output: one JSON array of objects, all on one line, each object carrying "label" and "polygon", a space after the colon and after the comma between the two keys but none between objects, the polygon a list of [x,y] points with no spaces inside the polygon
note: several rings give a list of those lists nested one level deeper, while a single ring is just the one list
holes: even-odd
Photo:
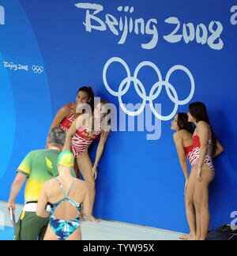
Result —
[{"label": "rightmost woman, long dark hair, in red-and-white striped swimsuit", "polygon": [[196,129],[193,136],[193,149],[190,153],[192,177],[189,183],[194,183],[194,213],[189,218],[196,222],[196,234],[190,234],[189,239],[204,240],[209,231],[209,183],[213,181],[215,169],[213,157],[224,151],[209,122],[205,104],[196,102],[190,104],[188,121],[194,122]]}]

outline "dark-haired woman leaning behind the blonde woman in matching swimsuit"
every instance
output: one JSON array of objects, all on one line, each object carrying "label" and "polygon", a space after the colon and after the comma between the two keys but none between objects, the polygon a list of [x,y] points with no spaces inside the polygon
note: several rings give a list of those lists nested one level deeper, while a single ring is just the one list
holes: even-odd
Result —
[{"label": "dark-haired woman leaning behind the blonde woman in matching swimsuit", "polygon": [[[68,132],[70,126],[77,119],[78,116],[82,115],[81,110],[88,104],[92,111],[94,110],[94,93],[91,87],[81,87],[77,92],[77,99],[75,103],[66,104],[63,106],[58,113],[55,115],[55,119],[51,124],[51,128],[61,127],[63,130]],[[46,146],[47,148],[47,146]],[[88,155],[88,152],[85,152]],[[79,170],[75,161],[74,170],[77,178],[79,178]]]}]

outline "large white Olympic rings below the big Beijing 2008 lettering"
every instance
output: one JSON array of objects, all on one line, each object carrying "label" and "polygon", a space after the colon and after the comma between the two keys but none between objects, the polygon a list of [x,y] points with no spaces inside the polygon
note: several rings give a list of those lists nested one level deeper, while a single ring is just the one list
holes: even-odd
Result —
[{"label": "large white Olympic rings below the big Beijing 2008 lettering", "polygon": [[[119,85],[118,92],[115,92],[114,90],[112,90],[111,87],[107,83],[107,69],[113,62],[121,63],[122,66],[124,66],[126,73],[127,73],[127,77]],[[152,69],[156,71],[156,74],[158,77],[158,81],[156,82],[155,85],[152,86],[149,96],[146,95],[144,85],[137,78],[139,71],[141,70],[141,68],[143,68],[145,66],[152,67]],[[191,83],[190,95],[185,100],[179,100],[178,94],[177,94],[174,86],[171,85],[171,83],[169,82],[171,74],[174,73],[176,70],[184,71],[190,78],[190,83]],[[140,96],[142,99],[141,107],[137,111],[127,110],[125,105],[122,103],[122,96],[124,96],[126,94],[126,92],[129,90],[131,82],[134,82],[134,88],[136,89],[138,96]],[[190,70],[188,70],[185,66],[176,65],[176,66],[171,67],[171,69],[167,72],[167,76],[165,77],[165,80],[163,80],[160,70],[154,63],[141,62],[137,66],[137,68],[134,72],[134,76],[132,77],[131,73],[130,73],[130,69],[127,66],[126,62],[124,62],[122,60],[122,58],[117,58],[117,57],[109,59],[107,61],[107,63],[105,64],[105,66],[103,68],[103,83],[104,83],[105,87],[107,88],[107,91],[110,92],[111,95],[117,96],[119,98],[119,105],[127,115],[131,115],[131,116],[140,115],[141,112],[144,111],[144,109],[145,109],[146,102],[149,101],[149,106],[151,107],[152,113],[156,116],[157,119],[160,119],[163,121],[172,119],[175,116],[175,114],[177,113],[179,105],[188,104],[190,102],[190,100],[193,98],[194,91],[195,91],[194,77],[193,77],[192,73],[190,73]],[[160,96],[160,92],[161,92],[163,86],[165,86],[167,96],[175,104],[174,110],[171,112],[170,115],[166,115],[166,116],[163,116],[163,115],[160,115],[159,113],[157,113],[155,107],[153,106],[153,102],[152,102],[153,100],[156,100],[156,98],[158,96]],[[156,91],[156,88],[158,88],[157,91]],[[156,93],[154,93],[155,91],[156,91]],[[171,92],[173,93],[173,95],[171,94]]]}]

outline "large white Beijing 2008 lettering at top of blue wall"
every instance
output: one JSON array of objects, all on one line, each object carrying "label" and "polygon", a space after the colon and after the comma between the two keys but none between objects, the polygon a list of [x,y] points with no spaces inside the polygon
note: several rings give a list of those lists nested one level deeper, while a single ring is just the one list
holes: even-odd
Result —
[{"label": "large white Beijing 2008 lettering at top of blue wall", "polygon": [[[103,14],[103,6],[99,4],[77,3],[75,5],[79,9],[85,9],[85,29],[87,32],[92,30],[107,31],[110,30],[115,36],[119,36],[118,44],[126,43],[127,37],[133,32],[136,35],[152,36],[148,43],[141,43],[141,48],[152,50],[157,46],[159,33],[157,30],[158,21],[155,18],[145,21],[141,17],[134,18],[131,15],[134,13],[133,6],[119,6],[116,10],[119,12],[119,17],[110,13]],[[237,24],[237,6],[232,6],[231,12],[234,13],[231,17],[231,24]],[[98,16],[100,15],[100,17]],[[167,24],[175,25],[173,31],[164,36],[164,40],[168,43],[179,43],[182,39],[185,43],[193,42],[196,39],[197,43],[202,45],[207,43],[213,50],[221,50],[224,47],[223,40],[220,35],[223,32],[223,25],[220,21],[211,21],[209,23],[209,31],[205,24],[198,24],[197,27],[189,22],[182,24],[178,17],[168,17],[165,21]],[[216,27],[216,28],[215,28]],[[181,28],[181,32],[180,32]],[[209,32],[211,35],[209,35]]]}]

